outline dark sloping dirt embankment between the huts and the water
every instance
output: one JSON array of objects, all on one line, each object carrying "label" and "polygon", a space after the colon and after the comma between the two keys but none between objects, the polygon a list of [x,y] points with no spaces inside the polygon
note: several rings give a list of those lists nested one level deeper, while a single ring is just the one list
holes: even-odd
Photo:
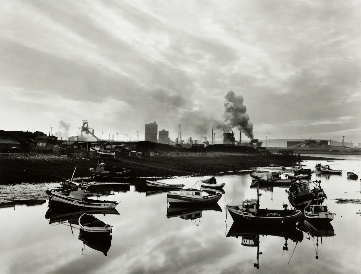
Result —
[{"label": "dark sloping dirt embankment between the huts and the water", "polygon": [[[170,177],[212,175],[249,169],[255,166],[293,165],[290,157],[262,154],[228,154],[218,156],[162,156],[137,158],[103,158],[109,166],[131,170],[131,177]],[[22,182],[54,182],[74,177],[89,177],[89,168],[95,168],[94,159],[60,158],[47,154],[0,153],[0,184]]]}]

